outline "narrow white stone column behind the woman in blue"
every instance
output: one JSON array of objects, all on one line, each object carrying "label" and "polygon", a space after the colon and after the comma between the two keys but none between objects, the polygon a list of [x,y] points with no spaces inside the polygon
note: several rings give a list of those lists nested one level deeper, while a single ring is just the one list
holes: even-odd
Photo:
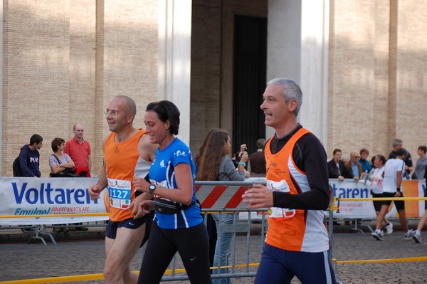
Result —
[{"label": "narrow white stone column behind the woman in blue", "polygon": [[191,0],[159,1],[158,70],[158,98],[179,108],[179,138],[189,144]]}]

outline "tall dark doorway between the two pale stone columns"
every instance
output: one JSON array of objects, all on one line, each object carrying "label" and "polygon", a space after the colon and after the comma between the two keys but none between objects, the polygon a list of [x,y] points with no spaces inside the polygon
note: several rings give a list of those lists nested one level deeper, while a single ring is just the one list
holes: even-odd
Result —
[{"label": "tall dark doorway between the two pale stone columns", "polygon": [[233,152],[246,143],[256,151],[256,140],[265,138],[260,110],[267,67],[267,19],[235,16],[233,74]]}]

